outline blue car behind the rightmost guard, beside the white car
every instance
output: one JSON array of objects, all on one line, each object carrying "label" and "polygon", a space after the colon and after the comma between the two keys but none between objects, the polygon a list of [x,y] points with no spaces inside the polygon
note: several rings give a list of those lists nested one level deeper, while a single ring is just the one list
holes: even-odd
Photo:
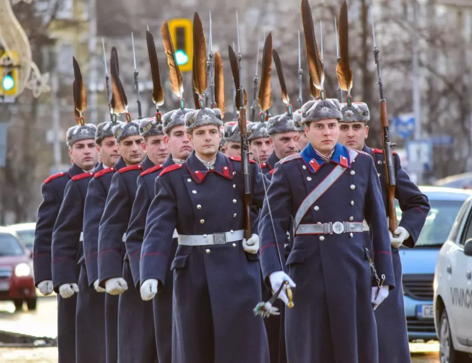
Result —
[{"label": "blue car behind the rightmost guard, beside the white car", "polygon": [[[432,307],[433,280],[439,250],[447,240],[459,209],[472,191],[420,187],[429,198],[431,210],[414,249],[401,247],[403,297],[408,339],[437,339]],[[397,217],[401,210],[397,204]]]}]

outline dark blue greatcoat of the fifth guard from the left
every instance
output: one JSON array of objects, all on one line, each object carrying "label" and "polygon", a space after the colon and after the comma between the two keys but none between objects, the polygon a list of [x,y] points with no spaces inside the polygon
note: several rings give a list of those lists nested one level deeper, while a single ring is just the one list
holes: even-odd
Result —
[{"label": "dark blue greatcoat of the fifth guard from the left", "polygon": [[[146,216],[152,199],[154,199],[155,178],[161,174],[164,168],[173,165],[172,156],[169,155],[164,164],[150,168],[137,178],[136,197],[134,198],[128,231],[126,232],[126,253],[129,255],[131,273],[134,285],[140,287],[140,257],[141,246],[146,227]],[[172,259],[177,250],[177,238],[172,240],[167,271],[170,271]],[[152,300],[154,313],[154,331],[159,363],[171,363],[172,361],[172,274],[166,275],[166,289]]]}]

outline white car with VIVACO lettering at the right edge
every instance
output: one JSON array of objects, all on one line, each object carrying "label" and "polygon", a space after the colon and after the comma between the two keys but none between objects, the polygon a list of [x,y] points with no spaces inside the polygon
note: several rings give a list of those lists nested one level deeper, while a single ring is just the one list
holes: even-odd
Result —
[{"label": "white car with VIVACO lettering at the right edge", "polygon": [[433,304],[441,363],[472,362],[472,197],[439,252]]}]

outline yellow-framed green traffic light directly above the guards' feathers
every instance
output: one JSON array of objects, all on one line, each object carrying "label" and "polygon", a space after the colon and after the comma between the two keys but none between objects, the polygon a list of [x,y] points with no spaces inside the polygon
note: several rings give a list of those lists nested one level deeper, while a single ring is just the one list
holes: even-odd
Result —
[{"label": "yellow-framed green traffic light directly above the guards' feathers", "polygon": [[192,21],[190,19],[171,19],[168,25],[179,69],[181,72],[190,72],[193,62]]}]

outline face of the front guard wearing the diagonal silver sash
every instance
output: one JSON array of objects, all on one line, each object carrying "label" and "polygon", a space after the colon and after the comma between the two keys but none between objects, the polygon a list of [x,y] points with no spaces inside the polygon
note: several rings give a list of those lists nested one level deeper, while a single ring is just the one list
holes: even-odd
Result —
[{"label": "face of the front guard wearing the diagonal silver sash", "polygon": [[313,149],[328,154],[336,146],[339,139],[339,122],[335,118],[311,122],[305,127]]}]

